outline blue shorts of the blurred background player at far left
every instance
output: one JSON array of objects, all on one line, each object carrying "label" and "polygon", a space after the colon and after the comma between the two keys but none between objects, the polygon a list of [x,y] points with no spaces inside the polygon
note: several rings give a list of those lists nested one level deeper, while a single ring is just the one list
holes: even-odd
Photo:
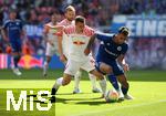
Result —
[{"label": "blue shorts of the blurred background player at far left", "polygon": [[21,52],[21,41],[12,41],[10,42],[12,52]]}]

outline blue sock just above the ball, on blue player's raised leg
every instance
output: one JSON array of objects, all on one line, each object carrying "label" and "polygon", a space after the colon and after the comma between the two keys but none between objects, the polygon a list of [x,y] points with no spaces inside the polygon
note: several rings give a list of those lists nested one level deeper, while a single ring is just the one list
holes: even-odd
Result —
[{"label": "blue sock just above the ball, on blue player's raised leg", "polygon": [[116,76],[115,75],[108,75],[108,81],[110,83],[112,84],[112,86],[118,91],[120,89],[120,86],[118,86],[118,83],[117,83],[117,80],[116,80]]}]

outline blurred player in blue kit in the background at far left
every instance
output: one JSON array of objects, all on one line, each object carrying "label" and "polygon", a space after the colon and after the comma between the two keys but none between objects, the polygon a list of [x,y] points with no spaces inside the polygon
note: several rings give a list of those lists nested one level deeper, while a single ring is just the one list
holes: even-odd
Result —
[{"label": "blurred player in blue kit in the background at far left", "polygon": [[21,57],[21,35],[24,34],[24,32],[21,21],[17,19],[15,11],[10,11],[9,20],[4,21],[1,32],[3,39],[8,41],[12,48],[14,63],[14,67],[12,67],[13,73],[21,75],[21,72],[18,68],[18,62]]}]

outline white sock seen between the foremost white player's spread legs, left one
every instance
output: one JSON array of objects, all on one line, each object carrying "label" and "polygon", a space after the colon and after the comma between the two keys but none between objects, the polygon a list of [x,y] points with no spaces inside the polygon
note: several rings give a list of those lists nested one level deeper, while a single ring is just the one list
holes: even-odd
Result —
[{"label": "white sock seen between the foremost white player's spread legs, left one", "polygon": [[80,80],[81,80],[82,72],[77,71],[74,75],[74,89],[79,89]]}]

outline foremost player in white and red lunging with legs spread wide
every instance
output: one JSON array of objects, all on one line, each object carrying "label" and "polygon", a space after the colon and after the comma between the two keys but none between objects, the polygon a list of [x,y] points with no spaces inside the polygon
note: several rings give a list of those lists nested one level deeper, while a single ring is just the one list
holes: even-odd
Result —
[{"label": "foremost player in white and red lunging with legs spread wide", "polygon": [[63,77],[56,80],[52,87],[52,95],[55,95],[60,86],[65,86],[71,82],[72,76],[76,74],[80,68],[95,75],[100,80],[100,85],[103,95],[106,91],[106,80],[97,72],[90,61],[90,56],[84,54],[90,38],[94,34],[94,30],[85,25],[83,17],[75,18],[75,24],[64,28],[63,32],[68,35],[70,41],[69,57],[65,66]]}]

